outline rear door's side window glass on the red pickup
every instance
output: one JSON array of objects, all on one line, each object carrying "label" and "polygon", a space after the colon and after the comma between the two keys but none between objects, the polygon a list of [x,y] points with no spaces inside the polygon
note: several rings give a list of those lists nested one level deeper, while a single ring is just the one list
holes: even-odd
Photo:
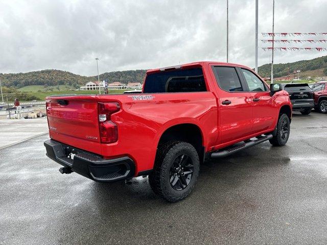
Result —
[{"label": "rear door's side window glass on the red pickup", "polygon": [[213,70],[221,89],[227,92],[244,91],[235,67],[214,66]]}]

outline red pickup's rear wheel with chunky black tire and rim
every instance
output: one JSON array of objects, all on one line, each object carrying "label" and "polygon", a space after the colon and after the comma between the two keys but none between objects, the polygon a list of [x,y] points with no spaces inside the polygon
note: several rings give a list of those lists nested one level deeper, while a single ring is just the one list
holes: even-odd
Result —
[{"label": "red pickup's rear wheel with chunky black tire and rim", "polygon": [[193,145],[172,141],[159,146],[149,183],[159,197],[178,202],[191,193],[199,171],[199,156]]}]

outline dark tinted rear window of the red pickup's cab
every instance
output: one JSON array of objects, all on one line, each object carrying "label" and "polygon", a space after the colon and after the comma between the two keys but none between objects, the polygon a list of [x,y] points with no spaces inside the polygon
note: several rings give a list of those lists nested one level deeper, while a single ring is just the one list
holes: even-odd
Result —
[{"label": "dark tinted rear window of the red pickup's cab", "polygon": [[178,69],[147,75],[144,93],[206,91],[202,68]]}]

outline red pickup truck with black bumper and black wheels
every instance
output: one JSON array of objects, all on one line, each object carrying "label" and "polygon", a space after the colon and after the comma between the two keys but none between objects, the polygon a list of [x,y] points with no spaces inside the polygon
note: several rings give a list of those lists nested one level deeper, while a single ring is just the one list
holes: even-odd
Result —
[{"label": "red pickup truck with black bumper and black wheels", "polygon": [[252,69],[196,62],[147,71],[142,93],[46,98],[46,155],[99,182],[149,176],[170,202],[195,186],[200,163],[269,140],[284,145],[292,104]]}]

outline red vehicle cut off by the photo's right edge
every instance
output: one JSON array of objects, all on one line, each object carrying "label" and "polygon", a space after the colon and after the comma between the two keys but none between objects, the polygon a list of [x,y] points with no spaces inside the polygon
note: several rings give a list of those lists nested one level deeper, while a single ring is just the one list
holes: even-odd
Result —
[{"label": "red vehicle cut off by the photo's right edge", "polygon": [[315,109],[327,113],[327,81],[312,83],[309,86],[314,92]]}]

